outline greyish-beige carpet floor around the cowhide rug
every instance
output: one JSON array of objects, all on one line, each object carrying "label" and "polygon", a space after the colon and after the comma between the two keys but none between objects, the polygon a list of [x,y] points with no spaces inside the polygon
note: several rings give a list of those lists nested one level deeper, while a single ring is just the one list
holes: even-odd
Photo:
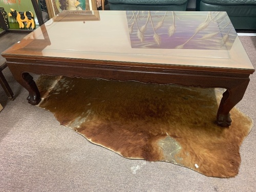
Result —
[{"label": "greyish-beige carpet floor around the cowhide rug", "polygon": [[[240,37],[256,67],[256,37]],[[166,162],[125,159],[59,125],[27,103],[27,91],[3,71],[16,96],[0,88],[0,191],[256,191],[256,130],[241,146],[235,178],[220,179]],[[35,78],[38,75],[35,75]],[[237,107],[256,121],[256,76]]]}]

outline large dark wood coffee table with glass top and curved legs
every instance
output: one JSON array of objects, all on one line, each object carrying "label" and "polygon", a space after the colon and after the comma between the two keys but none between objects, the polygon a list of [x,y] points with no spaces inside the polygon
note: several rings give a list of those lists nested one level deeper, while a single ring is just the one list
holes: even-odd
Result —
[{"label": "large dark wood coffee table with glass top and curved legs", "polygon": [[31,104],[29,73],[225,88],[220,126],[254,72],[226,12],[63,11],[2,55]]}]

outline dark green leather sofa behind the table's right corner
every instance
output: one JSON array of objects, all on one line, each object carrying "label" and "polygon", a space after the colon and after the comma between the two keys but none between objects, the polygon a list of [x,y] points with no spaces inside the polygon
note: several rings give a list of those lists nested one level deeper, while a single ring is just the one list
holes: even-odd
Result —
[{"label": "dark green leather sofa behind the table's right corner", "polygon": [[256,30],[255,0],[197,0],[197,11],[226,11],[234,28]]}]

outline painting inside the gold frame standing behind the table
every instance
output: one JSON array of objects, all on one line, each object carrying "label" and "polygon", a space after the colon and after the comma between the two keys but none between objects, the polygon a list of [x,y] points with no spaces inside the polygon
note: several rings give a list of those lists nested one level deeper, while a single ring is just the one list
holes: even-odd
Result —
[{"label": "painting inside the gold frame standing behind the table", "polygon": [[56,6],[59,11],[62,10],[86,10],[85,1],[77,0],[55,0]]}]

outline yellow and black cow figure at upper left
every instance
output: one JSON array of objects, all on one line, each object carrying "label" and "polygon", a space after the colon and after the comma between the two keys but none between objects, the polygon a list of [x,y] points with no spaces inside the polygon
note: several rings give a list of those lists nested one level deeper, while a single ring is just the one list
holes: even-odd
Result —
[{"label": "yellow and black cow figure at upper left", "polygon": [[20,12],[16,11],[14,9],[11,9],[11,12],[8,13],[10,17],[14,17],[18,24],[19,24],[19,29],[24,29],[26,23],[26,28],[29,29],[30,27],[32,29],[35,29],[35,21],[34,21],[34,15],[31,11],[26,11],[26,12]]}]

